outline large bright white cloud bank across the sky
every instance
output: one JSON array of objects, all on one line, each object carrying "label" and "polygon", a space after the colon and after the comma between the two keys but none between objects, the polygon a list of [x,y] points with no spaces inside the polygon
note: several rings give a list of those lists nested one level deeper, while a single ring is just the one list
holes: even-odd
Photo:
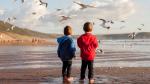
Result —
[{"label": "large bright white cloud bank across the sky", "polygon": [[[83,3],[82,0],[78,0],[78,2]],[[53,3],[49,3],[49,6],[51,4]],[[5,18],[16,17],[17,20],[12,22],[13,24],[43,32],[48,30],[48,33],[61,32],[65,25],[72,25],[75,27],[75,32],[78,32],[85,21],[97,22],[96,18],[126,19],[135,11],[132,0],[91,0],[91,2],[86,4],[96,6],[97,8],[80,10],[81,7],[79,5],[71,3],[66,9],[51,11],[39,5],[38,0],[25,0],[25,3],[20,5],[19,8],[14,8],[5,13]],[[36,14],[33,15],[33,12],[36,12]],[[0,14],[2,13],[0,10]],[[72,19],[60,22],[62,15],[69,16]]]}]

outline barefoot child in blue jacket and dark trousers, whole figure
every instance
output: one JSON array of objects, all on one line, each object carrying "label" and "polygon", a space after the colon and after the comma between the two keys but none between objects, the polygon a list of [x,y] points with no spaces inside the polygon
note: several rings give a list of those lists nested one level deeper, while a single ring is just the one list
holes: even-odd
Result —
[{"label": "barefoot child in blue jacket and dark trousers, whole figure", "polygon": [[57,42],[59,44],[57,54],[63,63],[62,77],[64,81],[73,80],[73,78],[71,77],[71,66],[72,59],[75,57],[76,48],[71,35],[72,28],[70,26],[66,26],[64,28],[64,36],[57,38]]}]

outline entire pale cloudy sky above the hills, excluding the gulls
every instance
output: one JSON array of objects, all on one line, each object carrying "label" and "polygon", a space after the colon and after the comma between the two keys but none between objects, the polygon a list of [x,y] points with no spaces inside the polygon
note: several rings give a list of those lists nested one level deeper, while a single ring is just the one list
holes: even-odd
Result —
[{"label": "entire pale cloudy sky above the hills, excluding the gulls", "polygon": [[[1,0],[0,20],[16,17],[9,23],[21,28],[28,28],[44,33],[63,33],[63,28],[70,25],[74,34],[82,34],[83,24],[94,22],[94,34],[150,32],[150,0],[43,0],[48,8],[39,5],[38,0]],[[81,10],[73,1],[95,6]],[[57,11],[57,9],[62,9]],[[36,14],[32,14],[36,13]],[[61,21],[61,16],[71,19]],[[105,29],[97,18],[113,20],[114,24],[106,24]],[[124,20],[125,23],[120,21]],[[142,26],[141,24],[144,24]],[[138,30],[137,28],[142,28]]]}]

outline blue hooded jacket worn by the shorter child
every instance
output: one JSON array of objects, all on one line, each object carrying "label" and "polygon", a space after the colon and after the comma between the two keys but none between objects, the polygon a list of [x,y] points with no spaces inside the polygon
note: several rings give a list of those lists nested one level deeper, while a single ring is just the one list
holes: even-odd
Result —
[{"label": "blue hooded jacket worn by the shorter child", "polygon": [[75,43],[70,36],[62,36],[57,38],[59,44],[57,54],[62,61],[72,60],[75,57]]}]

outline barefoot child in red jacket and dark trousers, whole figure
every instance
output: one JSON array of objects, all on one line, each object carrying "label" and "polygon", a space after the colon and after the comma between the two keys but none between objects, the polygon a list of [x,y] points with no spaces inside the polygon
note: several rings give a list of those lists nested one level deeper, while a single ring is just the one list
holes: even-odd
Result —
[{"label": "barefoot child in red jacket and dark trousers, whole figure", "polygon": [[77,39],[77,44],[80,48],[80,52],[81,52],[80,56],[82,59],[80,80],[84,81],[86,68],[88,66],[88,78],[90,84],[94,83],[93,63],[95,58],[95,50],[98,47],[97,38],[91,33],[92,29],[93,29],[92,23],[86,22],[83,27],[85,34],[81,35]]}]

